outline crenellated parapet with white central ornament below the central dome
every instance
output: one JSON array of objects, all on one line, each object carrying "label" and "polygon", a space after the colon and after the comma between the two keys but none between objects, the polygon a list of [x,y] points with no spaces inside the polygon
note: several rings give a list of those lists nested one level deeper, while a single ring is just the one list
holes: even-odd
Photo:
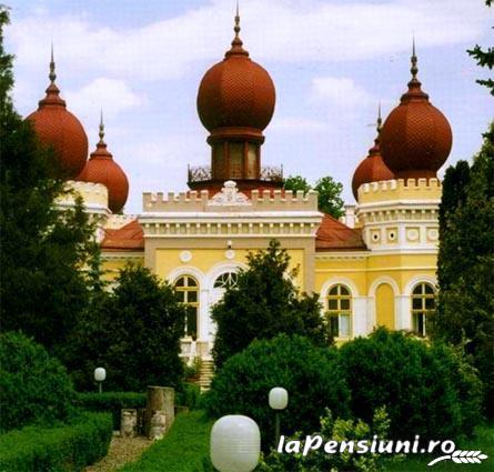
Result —
[{"label": "crenellated parapet with white central ornament below the central dome", "polygon": [[221,192],[210,195],[208,190],[164,194],[144,193],[144,212],[265,212],[317,211],[317,193],[290,190],[252,190],[248,198],[234,182],[225,182]]}]

